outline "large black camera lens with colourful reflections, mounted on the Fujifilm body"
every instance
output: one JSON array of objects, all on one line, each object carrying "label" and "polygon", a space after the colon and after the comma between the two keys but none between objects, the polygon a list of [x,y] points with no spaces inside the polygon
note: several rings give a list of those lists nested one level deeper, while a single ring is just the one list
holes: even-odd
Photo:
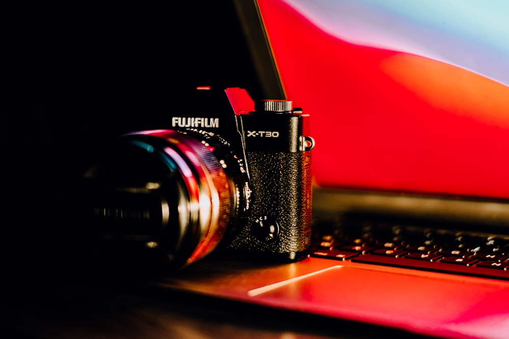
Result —
[{"label": "large black camera lens with colourful reflections, mounted on the Fujifilm body", "polygon": [[248,209],[241,159],[207,132],[122,136],[79,184],[100,252],[164,258],[173,268],[201,259],[234,236]]}]

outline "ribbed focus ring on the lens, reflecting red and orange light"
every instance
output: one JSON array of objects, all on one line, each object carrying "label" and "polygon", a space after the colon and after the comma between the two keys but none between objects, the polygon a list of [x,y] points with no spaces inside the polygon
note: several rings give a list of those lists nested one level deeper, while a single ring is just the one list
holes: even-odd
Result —
[{"label": "ribbed focus ring on the lens, reflecting red and orange light", "polygon": [[182,263],[187,265],[210,253],[221,240],[232,213],[232,185],[212,151],[195,138],[171,130],[139,133],[163,139],[155,147],[177,167],[183,186],[178,208],[180,234],[194,243],[182,245],[184,253],[174,256],[187,257]]}]

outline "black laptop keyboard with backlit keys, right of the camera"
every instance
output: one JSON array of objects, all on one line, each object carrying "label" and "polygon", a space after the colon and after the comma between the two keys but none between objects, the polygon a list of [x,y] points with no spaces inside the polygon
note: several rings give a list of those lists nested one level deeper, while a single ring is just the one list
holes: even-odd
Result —
[{"label": "black laptop keyboard with backlit keys, right of the camera", "polygon": [[310,256],[509,280],[509,236],[391,223],[315,225]]}]

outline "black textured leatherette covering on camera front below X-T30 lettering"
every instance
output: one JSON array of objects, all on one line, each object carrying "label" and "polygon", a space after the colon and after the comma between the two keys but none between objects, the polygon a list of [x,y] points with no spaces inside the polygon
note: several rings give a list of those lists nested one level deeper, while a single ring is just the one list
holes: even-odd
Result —
[{"label": "black textured leatherette covering on camera front below X-T30 lettering", "polygon": [[[299,252],[310,245],[311,159],[306,152],[248,152],[254,203],[246,227],[230,248],[274,253]],[[260,240],[252,228],[257,218],[277,221],[279,234]]]}]

